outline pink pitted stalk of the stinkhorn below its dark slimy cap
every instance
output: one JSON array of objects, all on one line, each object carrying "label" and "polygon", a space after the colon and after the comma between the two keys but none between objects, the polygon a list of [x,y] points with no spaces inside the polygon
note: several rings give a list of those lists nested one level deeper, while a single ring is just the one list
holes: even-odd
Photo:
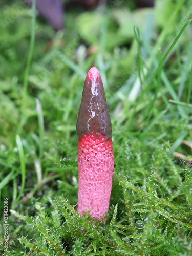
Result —
[{"label": "pink pitted stalk of the stinkhorn below its dark slimy cap", "polygon": [[97,134],[78,139],[79,190],[77,210],[101,220],[109,210],[114,170],[112,140]]}]

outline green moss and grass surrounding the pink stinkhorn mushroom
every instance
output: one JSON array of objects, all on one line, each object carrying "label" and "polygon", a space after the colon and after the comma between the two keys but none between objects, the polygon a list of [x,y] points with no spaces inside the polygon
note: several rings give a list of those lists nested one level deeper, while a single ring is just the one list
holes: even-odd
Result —
[{"label": "green moss and grass surrounding the pink stinkhorn mushroom", "polygon": [[[192,2],[184,2],[161,4],[166,21],[153,15],[160,1],[132,12],[126,2],[124,9],[112,3],[104,15],[67,10],[65,35],[38,17],[31,26],[34,13],[23,2],[1,2],[0,207],[8,198],[8,255],[191,255],[191,165],[174,153],[192,158],[183,141],[192,141],[191,24],[184,27]],[[76,118],[93,64],[113,123],[105,224],[75,210]]]}]

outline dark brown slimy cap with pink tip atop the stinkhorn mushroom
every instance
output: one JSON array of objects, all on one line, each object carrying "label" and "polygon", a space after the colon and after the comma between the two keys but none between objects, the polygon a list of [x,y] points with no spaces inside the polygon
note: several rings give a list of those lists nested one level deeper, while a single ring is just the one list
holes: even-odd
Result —
[{"label": "dark brown slimy cap with pink tip atop the stinkhorn mushroom", "polygon": [[112,125],[103,83],[99,71],[93,67],[89,70],[82,92],[82,100],[77,117],[77,133],[100,133],[105,139],[111,138]]}]

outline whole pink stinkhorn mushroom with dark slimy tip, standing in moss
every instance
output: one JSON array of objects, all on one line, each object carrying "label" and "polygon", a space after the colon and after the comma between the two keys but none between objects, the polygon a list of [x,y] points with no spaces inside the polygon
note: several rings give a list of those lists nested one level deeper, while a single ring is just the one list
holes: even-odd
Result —
[{"label": "whole pink stinkhorn mushroom with dark slimy tip, standing in moss", "polygon": [[99,71],[84,82],[77,117],[79,190],[77,210],[101,220],[109,210],[114,169],[112,125]]}]

